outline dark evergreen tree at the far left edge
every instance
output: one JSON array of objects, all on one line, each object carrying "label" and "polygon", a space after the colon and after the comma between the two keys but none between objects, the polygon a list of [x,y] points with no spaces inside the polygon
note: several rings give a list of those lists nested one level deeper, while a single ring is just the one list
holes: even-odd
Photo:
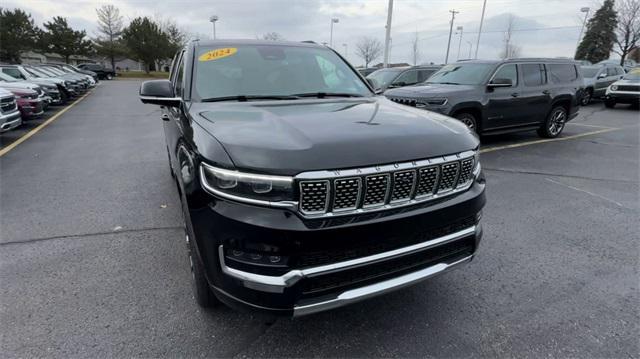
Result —
[{"label": "dark evergreen tree at the far left edge", "polygon": [[30,14],[0,8],[0,60],[20,63],[20,53],[36,48],[40,29]]}]

